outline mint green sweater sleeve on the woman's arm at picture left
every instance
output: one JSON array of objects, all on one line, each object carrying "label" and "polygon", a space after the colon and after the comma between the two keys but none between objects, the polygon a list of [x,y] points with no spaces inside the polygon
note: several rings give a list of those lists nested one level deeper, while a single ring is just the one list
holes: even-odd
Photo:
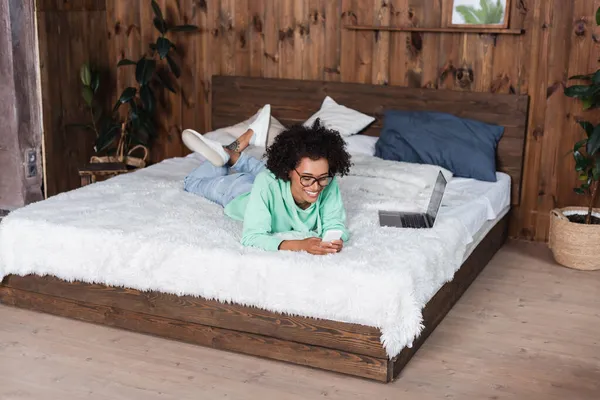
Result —
[{"label": "mint green sweater sleeve on the woman's arm at picture left", "polygon": [[277,251],[283,241],[272,234],[272,215],[267,182],[257,179],[244,213],[242,245],[258,247],[266,251]]}]

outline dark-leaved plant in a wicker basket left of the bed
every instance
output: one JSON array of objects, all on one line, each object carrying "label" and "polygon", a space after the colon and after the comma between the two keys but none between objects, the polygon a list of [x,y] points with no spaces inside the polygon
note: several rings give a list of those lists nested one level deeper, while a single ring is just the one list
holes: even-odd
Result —
[{"label": "dark-leaved plant in a wicker basket left of the bed", "polygon": [[[117,68],[135,66],[137,86],[125,88],[112,110],[104,112],[95,101],[100,85],[98,72],[87,64],[81,67],[82,96],[90,108],[92,119],[92,123],[85,125],[85,128],[96,134],[96,155],[92,157],[92,162],[124,162],[136,168],[145,166],[149,147],[157,134],[155,93],[163,89],[176,93],[172,76],[179,78],[181,69],[171,54],[176,49],[175,45],[166,35],[172,32],[195,32],[198,27],[171,26],[156,1],[152,0],[150,4],[154,12],[154,27],[160,36],[156,42],[149,44],[148,54],[142,55],[138,61],[123,59],[117,64]],[[121,115],[119,109],[123,105],[128,109]],[[137,149],[144,152],[142,158],[132,156]]]}]

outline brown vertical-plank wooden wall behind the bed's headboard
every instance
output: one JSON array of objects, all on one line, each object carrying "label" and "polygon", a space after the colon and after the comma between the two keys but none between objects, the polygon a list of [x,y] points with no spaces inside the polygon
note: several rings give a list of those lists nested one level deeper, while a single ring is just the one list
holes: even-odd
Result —
[{"label": "brown vertical-plank wooden wall behind the bed's headboard", "polygon": [[[114,66],[123,57],[139,56],[155,32],[149,1],[105,1],[109,65]],[[102,1],[66,3],[97,5]],[[180,80],[183,93],[169,97],[169,111],[161,118],[163,133],[153,149],[154,161],[185,153],[179,138],[182,129],[209,128],[213,74],[520,93],[530,95],[531,107],[524,189],[521,205],[512,215],[511,236],[546,240],[548,211],[555,206],[582,203],[572,191],[576,176],[573,162],[565,154],[581,136],[576,119],[583,114],[577,103],[565,98],[562,88],[567,76],[588,72],[597,65],[600,31],[593,17],[600,0],[513,0],[510,27],[525,29],[521,36],[343,28],[345,24],[440,26],[449,5],[447,0],[159,3],[167,7],[172,21],[193,23],[201,30],[173,37],[185,65]],[[81,26],[83,18],[90,18],[89,11],[71,17],[68,28]],[[94,25],[86,37],[91,40],[104,34],[103,28]],[[46,38],[51,40],[56,38]],[[74,61],[75,56],[64,50],[62,54],[61,65],[67,68],[66,60]],[[130,74],[119,72],[116,88],[122,89],[130,79]],[[54,87],[58,92],[65,90]],[[74,148],[73,144],[65,144],[56,155],[64,157]],[[89,155],[87,149],[78,149],[85,155],[81,158]],[[71,166],[64,160],[57,163]],[[72,169],[68,172],[71,174]],[[52,178],[67,179],[61,175]],[[68,179],[70,185],[74,178]],[[69,186],[55,185],[61,190]]]}]

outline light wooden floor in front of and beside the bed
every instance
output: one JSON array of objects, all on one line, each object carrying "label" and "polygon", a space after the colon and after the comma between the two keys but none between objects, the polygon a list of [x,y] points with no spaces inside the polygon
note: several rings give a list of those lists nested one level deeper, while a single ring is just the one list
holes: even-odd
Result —
[{"label": "light wooden floor in front of and beside the bed", "polygon": [[0,399],[600,399],[600,271],[511,242],[391,384],[0,306]]}]

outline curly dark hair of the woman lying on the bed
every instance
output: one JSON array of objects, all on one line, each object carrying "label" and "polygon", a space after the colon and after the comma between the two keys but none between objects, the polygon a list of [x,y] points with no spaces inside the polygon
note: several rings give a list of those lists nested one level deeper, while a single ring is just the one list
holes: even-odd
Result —
[{"label": "curly dark hair of the woman lying on the bed", "polygon": [[325,158],[329,162],[332,176],[348,175],[350,154],[339,132],[325,128],[317,119],[312,127],[290,126],[275,138],[267,149],[267,168],[282,180],[289,180],[289,173],[298,166],[300,160]]}]

